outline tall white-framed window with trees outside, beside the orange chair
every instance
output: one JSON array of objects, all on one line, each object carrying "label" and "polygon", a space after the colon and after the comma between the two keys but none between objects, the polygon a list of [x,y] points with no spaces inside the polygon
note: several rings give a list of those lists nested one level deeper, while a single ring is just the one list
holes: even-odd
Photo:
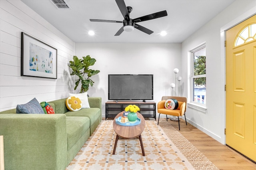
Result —
[{"label": "tall white-framed window with trees outside, beside the orange chair", "polygon": [[206,46],[202,45],[191,52],[192,55],[192,99],[206,104]]}]

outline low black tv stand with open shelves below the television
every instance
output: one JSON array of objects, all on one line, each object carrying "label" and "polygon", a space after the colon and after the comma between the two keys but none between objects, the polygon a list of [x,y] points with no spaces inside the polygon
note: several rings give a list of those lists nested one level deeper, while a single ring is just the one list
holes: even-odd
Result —
[{"label": "low black tv stand with open shelves below the television", "polygon": [[[156,102],[111,102],[108,101],[106,104],[106,119],[108,117],[116,117],[118,113],[121,111],[124,111],[125,107],[128,105],[136,105],[140,108],[140,114],[143,115],[143,117],[152,117],[156,120]],[[105,119],[105,120],[106,120]]]}]

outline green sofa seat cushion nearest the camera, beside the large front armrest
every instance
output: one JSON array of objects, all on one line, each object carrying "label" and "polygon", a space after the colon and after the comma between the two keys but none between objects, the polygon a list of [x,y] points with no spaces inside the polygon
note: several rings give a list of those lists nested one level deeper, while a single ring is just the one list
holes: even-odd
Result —
[{"label": "green sofa seat cushion nearest the camera, beside the large front armrest", "polygon": [[67,116],[67,144],[68,150],[90,129],[90,119],[88,117]]}]

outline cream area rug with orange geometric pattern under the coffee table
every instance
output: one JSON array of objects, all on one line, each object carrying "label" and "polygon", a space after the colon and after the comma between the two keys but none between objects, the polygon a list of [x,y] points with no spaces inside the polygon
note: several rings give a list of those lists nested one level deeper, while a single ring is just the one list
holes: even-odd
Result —
[{"label": "cream area rug with orange geometric pattern under the coffee table", "polygon": [[66,170],[194,170],[187,158],[166,136],[156,121],[146,120],[142,133],[145,156],[139,139],[118,140],[113,121],[102,121]]}]

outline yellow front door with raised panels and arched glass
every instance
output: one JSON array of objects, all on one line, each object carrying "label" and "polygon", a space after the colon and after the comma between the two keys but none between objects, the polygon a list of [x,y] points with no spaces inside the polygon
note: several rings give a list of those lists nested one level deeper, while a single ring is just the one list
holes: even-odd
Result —
[{"label": "yellow front door with raised panels and arched glass", "polygon": [[226,31],[226,144],[256,161],[256,15]]}]

